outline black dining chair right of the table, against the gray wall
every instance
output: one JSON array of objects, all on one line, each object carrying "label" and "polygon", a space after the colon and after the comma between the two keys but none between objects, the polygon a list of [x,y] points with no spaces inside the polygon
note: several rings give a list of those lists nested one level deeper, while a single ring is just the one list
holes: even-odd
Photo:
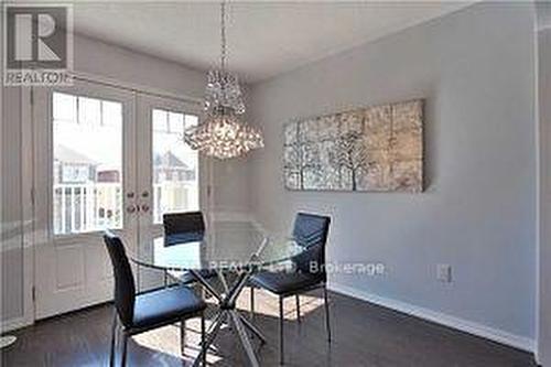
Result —
[{"label": "black dining chair right of the table, against the gray wall", "polygon": [[280,317],[280,363],[283,358],[283,300],[295,296],[296,320],[301,322],[300,294],[323,288],[325,306],[325,326],[327,341],[331,343],[329,305],[325,273],[325,244],[329,230],[331,218],[309,213],[299,213],[294,219],[293,239],[305,250],[292,259],[293,271],[261,271],[251,278],[250,304],[255,315],[255,288],[261,288],[279,295]]}]

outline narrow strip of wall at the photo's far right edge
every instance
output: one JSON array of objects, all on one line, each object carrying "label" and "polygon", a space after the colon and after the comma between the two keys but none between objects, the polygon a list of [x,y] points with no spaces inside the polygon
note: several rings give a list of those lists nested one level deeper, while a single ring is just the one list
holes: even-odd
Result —
[{"label": "narrow strip of wall at the photo's far right edge", "polygon": [[539,33],[539,68],[541,187],[538,350],[541,365],[551,366],[551,28]]}]

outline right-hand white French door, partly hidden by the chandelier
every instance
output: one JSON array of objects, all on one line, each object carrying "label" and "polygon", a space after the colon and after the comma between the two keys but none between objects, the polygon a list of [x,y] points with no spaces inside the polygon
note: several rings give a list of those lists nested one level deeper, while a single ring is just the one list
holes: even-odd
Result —
[{"label": "right-hand white French door, partly hidden by the chandelier", "polygon": [[[198,122],[197,104],[138,94],[138,207],[140,256],[152,256],[165,213],[203,211],[208,222],[210,169],[184,143],[184,130]],[[205,187],[206,190],[203,190]],[[164,274],[141,268],[140,290],[159,287]]]}]

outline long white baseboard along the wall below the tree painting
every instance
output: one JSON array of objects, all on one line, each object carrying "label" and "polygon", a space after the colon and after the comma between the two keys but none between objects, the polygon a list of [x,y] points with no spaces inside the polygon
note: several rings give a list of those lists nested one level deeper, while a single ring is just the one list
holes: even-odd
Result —
[{"label": "long white baseboard along the wall below the tree painting", "polygon": [[477,322],[452,316],[439,311],[420,307],[407,302],[379,296],[377,294],[365,292],[348,285],[329,282],[328,289],[336,293],[349,295],[355,299],[371,302],[381,305],[383,307],[388,307],[391,310],[403,312],[412,316],[428,320],[436,324],[456,328],[458,331],[480,336],[497,343],[506,344],[515,348],[534,353],[534,347],[536,347],[534,341],[526,336],[515,335],[499,328],[490,327]]}]

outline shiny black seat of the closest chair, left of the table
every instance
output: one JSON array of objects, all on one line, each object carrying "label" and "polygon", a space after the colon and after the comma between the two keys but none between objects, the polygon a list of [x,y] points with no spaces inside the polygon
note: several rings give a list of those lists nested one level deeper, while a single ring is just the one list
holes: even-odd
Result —
[{"label": "shiny black seat of the closest chair, left of the table", "polygon": [[186,287],[172,287],[136,296],[132,327],[149,327],[187,319],[206,303]]}]

